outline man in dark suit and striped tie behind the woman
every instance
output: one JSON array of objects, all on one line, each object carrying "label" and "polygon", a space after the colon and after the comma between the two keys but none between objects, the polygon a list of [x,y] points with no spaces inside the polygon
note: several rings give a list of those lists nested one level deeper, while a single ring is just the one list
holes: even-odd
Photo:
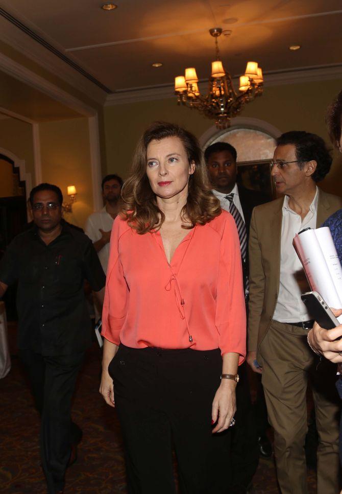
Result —
[{"label": "man in dark suit and striped tie behind the woman", "polygon": [[[207,170],[214,195],[221,207],[229,211],[236,223],[240,238],[241,260],[245,286],[246,309],[248,310],[248,234],[253,208],[267,202],[267,196],[260,192],[237,185],[236,149],[228,143],[218,142],[209,146],[204,153]],[[232,488],[236,494],[248,492],[258,466],[258,441],[261,454],[271,455],[271,445],[266,437],[257,432],[251,404],[250,387],[246,364],[239,367],[240,381],[236,388],[236,425],[231,434]],[[263,403],[263,399],[261,399]],[[265,407],[264,407],[265,410]],[[264,424],[267,424],[264,415]],[[267,451],[268,449],[268,451]]]}]

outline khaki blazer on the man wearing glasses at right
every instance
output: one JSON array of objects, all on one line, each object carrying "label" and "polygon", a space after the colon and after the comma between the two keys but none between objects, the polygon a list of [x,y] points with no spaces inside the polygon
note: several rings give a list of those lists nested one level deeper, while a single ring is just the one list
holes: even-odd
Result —
[{"label": "khaki blazer on the man wearing glasses at right", "polygon": [[[342,208],[342,199],[318,190],[316,227]],[[284,198],[253,209],[250,238],[248,351],[256,351],[270,327],[279,293],[280,240]],[[294,253],[295,255],[295,253]]]}]

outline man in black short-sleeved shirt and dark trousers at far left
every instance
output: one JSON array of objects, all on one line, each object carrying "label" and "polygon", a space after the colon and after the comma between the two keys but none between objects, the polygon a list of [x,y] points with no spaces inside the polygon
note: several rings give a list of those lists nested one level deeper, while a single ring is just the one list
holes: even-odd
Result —
[{"label": "man in black short-sleeved shirt and dark trousers at far left", "polygon": [[0,297],[18,281],[18,349],[41,414],[40,448],[49,494],[63,492],[65,470],[82,431],[71,398],[91,322],[87,280],[101,298],[105,274],[88,237],[62,220],[63,196],[42,183],[30,194],[34,225],[9,245],[0,263]]}]

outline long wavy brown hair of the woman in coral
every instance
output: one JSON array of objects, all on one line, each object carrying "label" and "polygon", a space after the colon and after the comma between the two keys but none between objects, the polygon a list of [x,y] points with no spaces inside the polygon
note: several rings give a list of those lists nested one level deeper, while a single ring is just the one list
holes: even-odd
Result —
[{"label": "long wavy brown hair of the woman in coral", "polygon": [[121,191],[123,201],[120,216],[140,234],[159,229],[165,220],[146,175],[146,151],[152,140],[162,140],[166,137],[178,137],[185,148],[189,165],[195,163],[195,171],[189,176],[187,201],[181,213],[182,221],[190,225],[182,225],[182,228],[190,229],[196,224],[204,225],[221,213],[219,201],[210,189],[197,138],[176,124],[154,122],[139,139],[130,177]]}]

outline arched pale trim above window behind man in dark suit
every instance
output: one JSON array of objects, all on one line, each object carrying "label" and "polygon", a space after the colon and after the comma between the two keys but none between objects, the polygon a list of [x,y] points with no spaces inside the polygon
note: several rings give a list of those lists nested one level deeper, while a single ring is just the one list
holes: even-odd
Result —
[{"label": "arched pale trim above window behind man in dark suit", "polygon": [[204,150],[204,148],[209,146],[214,139],[216,139],[219,135],[224,134],[228,130],[241,128],[261,130],[262,132],[271,135],[275,139],[281,135],[281,131],[277,127],[269,124],[265,120],[254,119],[253,117],[249,116],[235,116],[234,124],[231,125],[228,129],[218,130],[215,125],[212,125],[209,129],[207,129],[199,138],[201,148]]}]

